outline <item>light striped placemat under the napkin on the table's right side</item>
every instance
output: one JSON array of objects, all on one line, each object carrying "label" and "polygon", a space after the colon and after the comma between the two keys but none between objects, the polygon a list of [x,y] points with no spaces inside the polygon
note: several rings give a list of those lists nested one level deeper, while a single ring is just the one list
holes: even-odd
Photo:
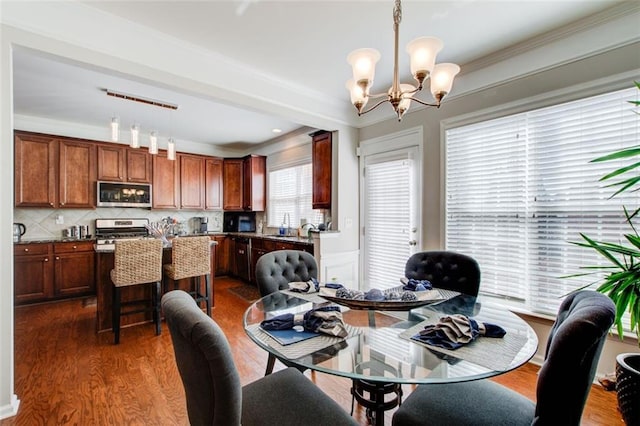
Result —
[{"label": "light striped placemat under the napkin on the table's right side", "polygon": [[478,337],[471,343],[462,346],[456,350],[444,349],[438,346],[428,345],[419,340],[412,339],[425,325],[437,323],[439,318],[433,317],[426,321],[422,321],[399,334],[403,339],[411,340],[413,343],[424,346],[431,351],[439,352],[454,358],[473,362],[496,371],[505,371],[509,369],[511,362],[516,357],[520,349],[527,343],[525,336],[509,333],[502,338]]}]

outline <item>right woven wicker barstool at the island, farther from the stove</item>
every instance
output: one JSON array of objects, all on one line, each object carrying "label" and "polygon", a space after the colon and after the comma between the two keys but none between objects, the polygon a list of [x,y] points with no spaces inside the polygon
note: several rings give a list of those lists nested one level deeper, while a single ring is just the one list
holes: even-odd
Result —
[{"label": "right woven wicker barstool at the island, farther from the stove", "polygon": [[[211,239],[204,237],[181,237],[171,241],[171,264],[164,265],[165,280],[173,280],[173,289],[178,280],[194,278],[193,289],[189,292],[198,305],[204,301],[207,315],[211,316]],[[204,294],[201,291],[200,278],[204,276]],[[164,291],[167,292],[165,281]]]}]

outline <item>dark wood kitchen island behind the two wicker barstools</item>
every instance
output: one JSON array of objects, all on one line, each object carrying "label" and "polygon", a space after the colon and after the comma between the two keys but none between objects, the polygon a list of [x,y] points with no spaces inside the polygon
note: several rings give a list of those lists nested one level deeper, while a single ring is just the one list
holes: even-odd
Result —
[{"label": "dark wood kitchen island behind the two wicker barstools", "polygon": [[[189,237],[179,237],[189,238]],[[213,298],[213,285],[214,285],[214,273],[215,271],[215,247],[216,242],[211,241],[211,271],[210,283],[211,283],[211,306],[215,306]],[[98,247],[98,246],[96,246]],[[112,309],[112,295],[113,295],[113,283],[111,282],[111,270],[114,266],[114,252],[113,250],[105,250],[96,248],[96,332],[111,330],[111,309]],[[162,264],[171,263],[171,247],[165,247],[162,253]],[[172,281],[171,281],[172,283]],[[191,278],[185,278],[179,280],[177,286],[181,290],[191,291],[193,283]],[[201,280],[201,286],[204,286],[204,280]],[[173,290],[173,285],[170,284],[169,290]],[[164,292],[164,286],[162,287]],[[203,293],[203,291],[201,291]],[[151,285],[134,285],[130,287],[122,288],[122,301],[132,300],[151,300]],[[151,312],[140,312],[131,315],[124,315],[120,319],[120,326],[126,327],[129,325],[141,324],[144,322],[152,322]]]}]

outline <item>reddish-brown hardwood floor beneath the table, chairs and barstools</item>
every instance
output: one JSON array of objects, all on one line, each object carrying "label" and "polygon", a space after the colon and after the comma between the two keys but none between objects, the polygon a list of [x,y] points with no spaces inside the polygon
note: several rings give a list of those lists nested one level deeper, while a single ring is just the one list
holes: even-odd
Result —
[{"label": "reddish-brown hardwood floor beneath the table, chairs and barstools", "polygon": [[[262,377],[267,354],[242,328],[248,302],[227,291],[240,284],[216,278],[212,316],[225,331],[246,384]],[[115,346],[110,332],[95,333],[95,317],[95,305],[83,300],[16,308],[15,392],[21,402],[18,415],[0,426],[188,424],[166,324],[161,336],[151,323],[125,328]],[[534,399],[537,371],[528,364],[495,380]],[[306,374],[345,410],[351,409],[349,380]],[[405,395],[410,390],[405,387]],[[391,413],[386,415],[389,425]],[[354,417],[367,424],[362,408],[356,406]],[[582,424],[623,425],[615,393],[593,386]]]}]

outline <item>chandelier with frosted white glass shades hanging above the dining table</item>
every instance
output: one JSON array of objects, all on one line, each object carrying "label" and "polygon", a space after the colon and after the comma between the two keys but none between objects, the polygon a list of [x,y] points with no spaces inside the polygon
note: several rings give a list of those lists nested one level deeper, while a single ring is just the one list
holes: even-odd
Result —
[{"label": "chandelier with frosted white glass shades hanging above the dining table", "polygon": [[[395,0],[393,8],[393,32],[394,32],[394,58],[393,58],[393,84],[386,93],[371,95],[369,89],[373,84],[376,63],[380,60],[380,53],[375,49],[354,50],[347,56],[347,62],[353,68],[353,79],[347,82],[347,89],[351,94],[351,103],[358,110],[358,115],[373,111],[379,105],[389,102],[398,116],[398,121],[409,109],[411,101],[419,104],[440,108],[440,102],[450,91],[453,79],[460,72],[456,64],[435,64],[436,55],[442,50],[442,41],[435,37],[419,37],[407,45],[407,53],[411,58],[411,74],[418,82],[418,86],[412,84],[400,84],[398,78],[398,32],[402,20],[402,5],[400,0]],[[422,90],[426,79],[431,80],[431,94],[435,102],[422,101],[414,95]],[[364,109],[369,99],[379,99],[369,109]]]}]

